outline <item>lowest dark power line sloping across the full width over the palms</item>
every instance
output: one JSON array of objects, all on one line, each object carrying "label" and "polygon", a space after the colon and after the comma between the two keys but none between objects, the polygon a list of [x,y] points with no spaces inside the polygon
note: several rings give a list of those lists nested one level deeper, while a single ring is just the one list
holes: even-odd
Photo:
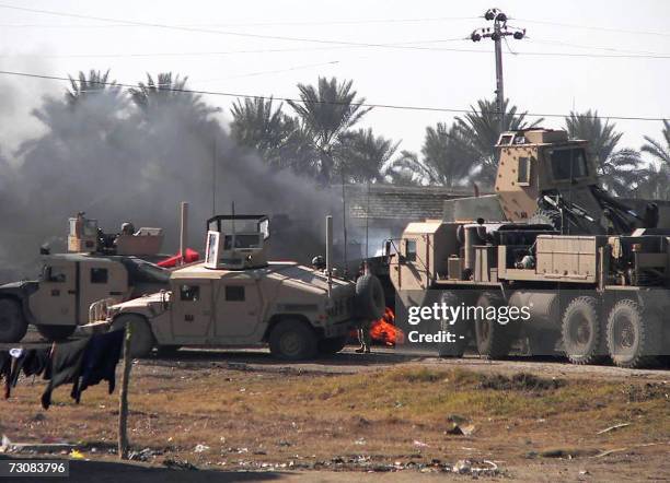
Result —
[{"label": "lowest dark power line sloping across the full width over the palms", "polygon": [[[63,82],[79,82],[77,79],[63,78],[59,75],[46,75],[46,74],[35,74],[28,72],[15,72],[15,71],[7,71],[0,70],[0,75],[14,75],[22,78],[33,78],[33,79],[43,79],[43,80],[51,80],[51,81],[63,81]],[[111,87],[124,87],[124,89],[140,89],[139,84],[127,84],[127,83],[115,83],[115,82],[89,82],[91,84],[97,85],[107,85]],[[176,89],[176,87],[160,87],[162,91],[182,93],[182,94],[199,94],[199,95],[217,95],[223,97],[242,97],[242,98],[251,98],[251,99],[275,99],[282,102],[294,102],[304,104],[304,102],[300,98],[294,97],[275,97],[275,96],[264,96],[264,95],[251,95],[251,94],[240,94],[240,93],[230,93],[230,92],[220,92],[220,91],[203,91],[203,90],[192,90],[192,89]],[[397,105],[397,104],[372,104],[372,103],[336,103],[330,101],[317,101],[315,104],[334,104],[334,105],[353,105],[360,107],[376,107],[380,109],[397,109],[397,110],[416,110],[416,111],[432,111],[432,113],[454,113],[454,114],[496,114],[496,111],[487,111],[487,110],[477,110],[477,109],[457,109],[457,108],[448,108],[448,107],[429,107],[429,106],[407,106],[407,105]],[[508,115],[511,115],[508,113]],[[513,116],[530,116],[530,117],[558,117],[565,118],[569,117],[566,114],[546,114],[546,113],[520,113],[515,114]],[[586,115],[585,115],[586,116]],[[662,121],[669,119],[670,116],[667,117],[647,117],[647,116],[596,116],[590,115],[586,116],[593,119],[614,119],[614,120],[636,120],[636,121]]]}]

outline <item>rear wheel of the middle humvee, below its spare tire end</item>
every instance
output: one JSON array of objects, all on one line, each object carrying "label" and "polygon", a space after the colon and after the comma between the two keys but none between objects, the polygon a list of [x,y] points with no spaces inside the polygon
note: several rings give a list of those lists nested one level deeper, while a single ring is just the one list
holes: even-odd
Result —
[{"label": "rear wheel of the middle humvee, below its spare tire end", "polygon": [[286,361],[313,358],[317,351],[316,334],[300,320],[280,321],[269,337],[270,352]]}]

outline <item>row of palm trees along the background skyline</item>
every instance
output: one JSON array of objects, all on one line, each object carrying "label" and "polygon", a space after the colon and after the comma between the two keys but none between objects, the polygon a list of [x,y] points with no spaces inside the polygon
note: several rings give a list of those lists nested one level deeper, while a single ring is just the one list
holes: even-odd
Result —
[{"label": "row of palm trees along the background skyline", "polygon": [[[70,104],[94,91],[120,95],[108,72],[83,72],[72,80],[67,93]],[[180,103],[188,116],[207,123],[219,110],[198,95],[184,93],[187,78],[161,73],[130,90],[143,118],[159,115],[165,101]],[[230,136],[256,152],[270,169],[290,169],[321,185],[374,182],[414,186],[463,187],[476,184],[490,189],[495,179],[500,122],[495,101],[480,99],[471,111],[451,123],[428,126],[419,153],[398,151],[400,142],[378,136],[358,125],[371,110],[350,80],[319,78],[315,85],[298,84],[300,102],[277,103],[273,98],[238,99],[230,109]],[[504,104],[504,130],[540,126],[509,101]],[[638,149],[620,145],[616,125],[598,117],[598,111],[571,111],[564,119],[570,138],[589,141],[603,187],[617,196],[670,199],[670,121],[662,138],[645,137]],[[650,160],[645,163],[642,153]]]}]

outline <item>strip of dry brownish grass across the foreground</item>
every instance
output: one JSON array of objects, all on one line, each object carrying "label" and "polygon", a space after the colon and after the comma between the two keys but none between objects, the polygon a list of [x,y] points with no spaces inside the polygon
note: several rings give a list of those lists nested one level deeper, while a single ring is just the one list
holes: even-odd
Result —
[{"label": "strip of dry brownish grass across the foreground", "polygon": [[[42,381],[23,381],[0,402],[1,433],[12,440],[79,443],[86,457],[108,457],[116,394],[94,387],[74,405],[59,388],[44,412],[42,390]],[[497,461],[513,474],[513,468],[548,458],[648,453],[650,474],[658,475],[668,471],[658,462],[670,440],[669,392],[663,382],[407,365],[328,375],[149,362],[134,367],[129,437],[135,451],[152,450],[146,451],[149,461],[226,469],[370,469],[466,458]],[[451,435],[454,422],[474,432]],[[619,423],[629,425],[598,434]],[[206,448],[196,451],[197,445]],[[615,451],[598,457],[608,450]]]}]

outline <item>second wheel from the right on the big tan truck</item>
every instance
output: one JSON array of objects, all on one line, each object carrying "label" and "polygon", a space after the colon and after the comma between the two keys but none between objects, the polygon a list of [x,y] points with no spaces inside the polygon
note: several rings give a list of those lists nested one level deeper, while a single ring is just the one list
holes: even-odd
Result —
[{"label": "second wheel from the right on the big tan truck", "polygon": [[590,296],[574,298],[563,313],[563,350],[573,364],[592,364],[604,355],[598,302]]}]

